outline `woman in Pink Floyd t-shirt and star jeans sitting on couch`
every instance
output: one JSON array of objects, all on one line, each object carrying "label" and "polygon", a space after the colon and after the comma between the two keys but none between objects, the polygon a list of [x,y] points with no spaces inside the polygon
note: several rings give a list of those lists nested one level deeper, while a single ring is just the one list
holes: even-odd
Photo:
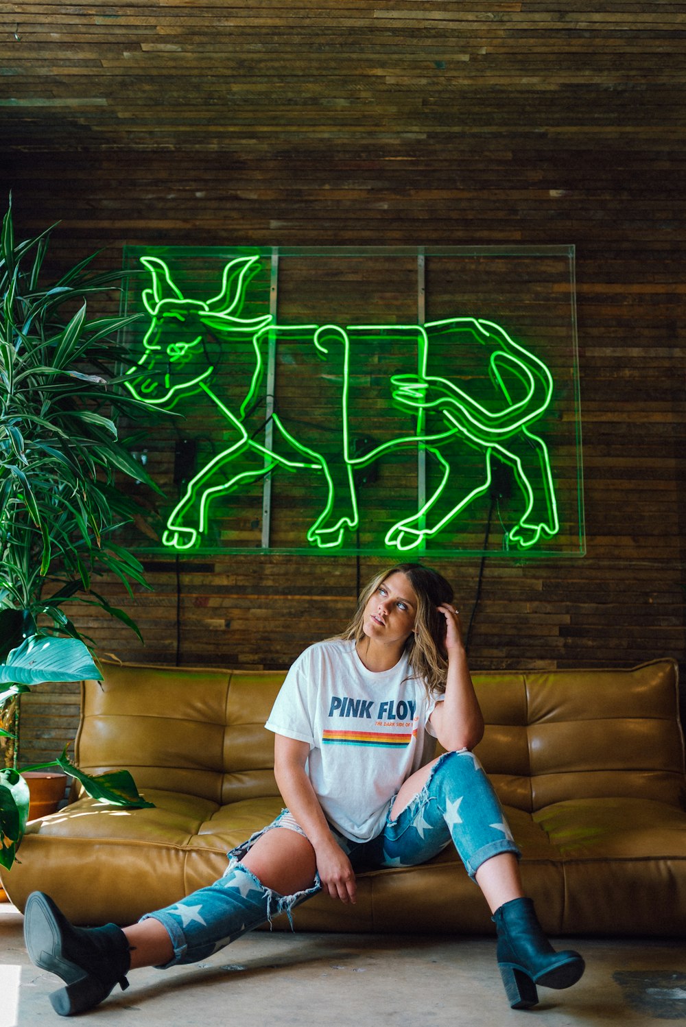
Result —
[{"label": "woman in Pink Floyd t-shirt and star jeans sitting on couch", "polygon": [[[50,996],[58,1013],[91,1009],[137,966],[205,959],[319,890],[354,903],[356,869],[423,863],[451,841],[493,913],[512,1009],[534,1005],[537,984],[578,981],[583,960],[543,936],[471,754],[484,721],[444,577],[419,564],[377,575],[346,632],[295,661],[267,727],[287,809],[229,852],[219,881],[123,930],[74,927],[48,896],[29,897],[29,954],[67,985]],[[423,763],[426,733],[447,752]]]}]

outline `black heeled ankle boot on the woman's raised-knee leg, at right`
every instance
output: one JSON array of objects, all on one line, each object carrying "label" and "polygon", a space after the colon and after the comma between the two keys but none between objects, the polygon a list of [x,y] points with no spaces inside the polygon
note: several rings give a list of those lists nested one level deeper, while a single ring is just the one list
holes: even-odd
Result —
[{"label": "black heeled ankle boot on the woman's raised-knee leg, at right", "polygon": [[528,1010],[538,1001],[536,985],[569,988],[584,971],[578,952],[556,952],[543,934],[531,899],[512,899],[495,911],[498,966],[507,1000],[513,1010]]}]

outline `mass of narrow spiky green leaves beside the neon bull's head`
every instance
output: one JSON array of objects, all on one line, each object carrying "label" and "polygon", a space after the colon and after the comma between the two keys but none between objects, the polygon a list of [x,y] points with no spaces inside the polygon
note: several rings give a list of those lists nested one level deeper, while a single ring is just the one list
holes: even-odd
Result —
[{"label": "mass of narrow spiky green leaves beside the neon bull's head", "polygon": [[[91,575],[109,572],[129,592],[134,582],[148,587],[123,550],[108,545],[102,555],[100,546],[122,523],[139,524],[148,501],[145,490],[143,498],[122,491],[122,476],[159,490],[131,445],[117,440],[121,415],[150,417],[120,373],[131,363],[121,331],[141,315],[103,315],[94,307],[104,298],[111,309],[131,272],[93,272],[93,254],[59,280],[41,280],[50,231],[17,242],[11,203],[2,222],[0,609],[31,608],[49,618],[55,635],[74,640],[82,636],[65,621],[60,599],[42,599],[48,576],[49,587],[71,578],[86,594]],[[123,611],[94,603],[136,630]],[[7,645],[18,648],[16,639]]]}]

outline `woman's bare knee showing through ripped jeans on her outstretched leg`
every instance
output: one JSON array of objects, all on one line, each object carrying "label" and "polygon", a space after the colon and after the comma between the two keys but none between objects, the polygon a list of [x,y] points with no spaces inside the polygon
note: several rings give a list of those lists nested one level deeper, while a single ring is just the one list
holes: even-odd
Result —
[{"label": "woman's bare knee showing through ripped jeans on her outstretched leg", "polygon": [[316,857],[312,844],[290,828],[265,832],[240,863],[265,887],[282,896],[303,891],[314,883]]}]

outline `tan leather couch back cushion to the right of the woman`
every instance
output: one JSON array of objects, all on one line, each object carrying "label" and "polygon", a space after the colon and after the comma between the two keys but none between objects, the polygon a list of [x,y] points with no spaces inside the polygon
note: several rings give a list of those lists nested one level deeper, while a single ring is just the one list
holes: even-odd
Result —
[{"label": "tan leather couch back cushion to the right of the woman", "polygon": [[475,753],[503,802],[534,812],[575,796],[634,797],[684,808],[674,660],[473,678],[487,722]]}]

